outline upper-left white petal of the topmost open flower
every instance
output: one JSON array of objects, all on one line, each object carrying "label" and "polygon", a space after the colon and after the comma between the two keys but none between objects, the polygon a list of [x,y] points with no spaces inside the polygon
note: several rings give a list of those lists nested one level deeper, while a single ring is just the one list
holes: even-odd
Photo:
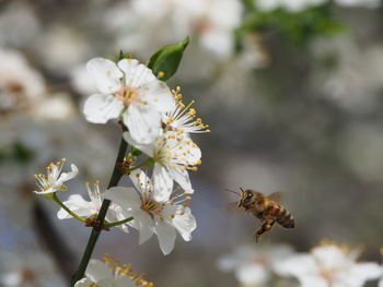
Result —
[{"label": "upper-left white petal of the topmost open flower", "polygon": [[114,93],[121,87],[120,79],[124,76],[124,73],[111,60],[103,58],[92,59],[86,63],[86,69],[101,93]]}]

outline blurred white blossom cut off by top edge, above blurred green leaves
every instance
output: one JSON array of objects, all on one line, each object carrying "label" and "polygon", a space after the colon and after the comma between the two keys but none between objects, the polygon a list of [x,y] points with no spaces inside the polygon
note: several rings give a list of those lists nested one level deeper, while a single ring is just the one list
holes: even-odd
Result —
[{"label": "blurred white blossom cut off by top edge, above blurred green leaves", "polygon": [[255,5],[260,11],[272,11],[278,8],[291,12],[299,12],[307,8],[321,5],[327,0],[255,0]]}]

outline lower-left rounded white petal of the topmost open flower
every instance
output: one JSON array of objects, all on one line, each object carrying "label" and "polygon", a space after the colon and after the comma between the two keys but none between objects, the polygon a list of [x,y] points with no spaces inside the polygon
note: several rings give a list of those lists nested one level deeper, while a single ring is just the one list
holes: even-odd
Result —
[{"label": "lower-left rounded white petal of the topmost open flower", "polygon": [[85,100],[83,112],[90,122],[106,123],[108,120],[117,119],[123,109],[123,101],[115,96],[94,94]]}]

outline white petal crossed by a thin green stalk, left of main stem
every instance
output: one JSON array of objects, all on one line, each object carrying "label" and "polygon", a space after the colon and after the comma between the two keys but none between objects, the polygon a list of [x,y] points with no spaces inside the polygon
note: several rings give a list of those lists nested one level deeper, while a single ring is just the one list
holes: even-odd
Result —
[{"label": "white petal crossed by a thin green stalk, left of main stem", "polygon": [[[97,212],[92,202],[85,201],[79,194],[70,195],[69,200],[63,202],[63,204],[81,217],[89,217]],[[57,217],[59,219],[66,219],[71,218],[72,216],[69,213],[67,213],[63,208],[61,208],[58,211]]]}]

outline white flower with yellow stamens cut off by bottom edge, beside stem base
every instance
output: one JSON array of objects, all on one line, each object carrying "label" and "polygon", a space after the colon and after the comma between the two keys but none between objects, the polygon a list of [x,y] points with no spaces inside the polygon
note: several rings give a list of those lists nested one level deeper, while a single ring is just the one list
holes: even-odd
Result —
[{"label": "white flower with yellow stamens cut off by bottom edge, beside stem base", "polygon": [[118,266],[117,260],[111,260],[107,254],[104,262],[92,259],[85,271],[85,278],[77,282],[74,287],[135,287],[135,286],[154,286],[153,283],[143,279],[143,274],[134,274],[131,266],[124,264]]}]

